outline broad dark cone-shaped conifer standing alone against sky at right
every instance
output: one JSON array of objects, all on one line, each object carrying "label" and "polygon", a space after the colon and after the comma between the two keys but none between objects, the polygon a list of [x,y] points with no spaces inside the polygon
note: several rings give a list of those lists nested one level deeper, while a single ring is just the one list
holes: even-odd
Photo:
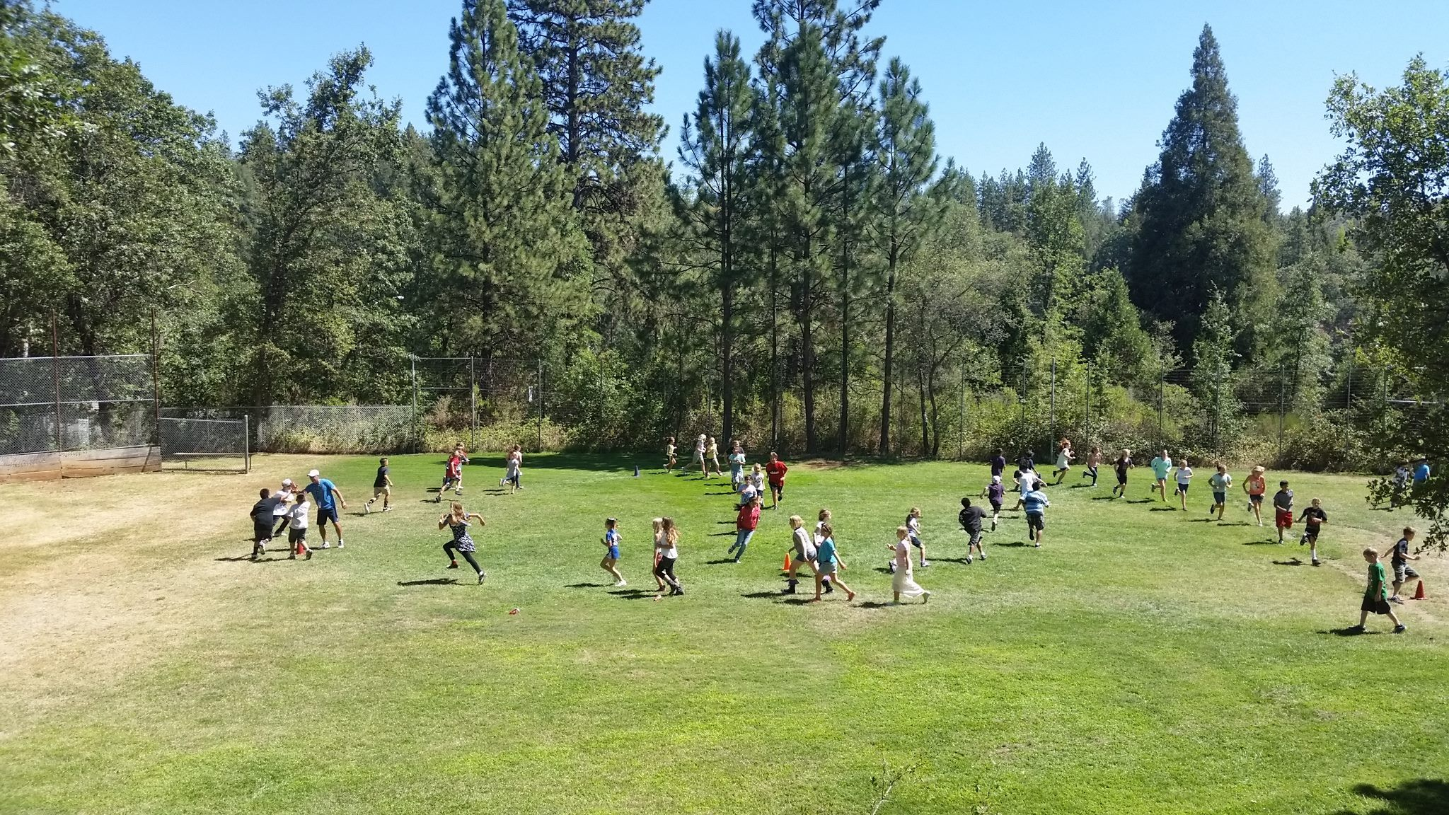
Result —
[{"label": "broad dark cone-shaped conifer standing alone against sky at right", "polygon": [[[1214,287],[1242,326],[1262,316],[1274,289],[1266,202],[1208,26],[1193,52],[1193,87],[1178,97],[1161,144],[1136,196],[1140,228],[1127,281],[1137,305],[1172,320],[1178,345],[1193,347]],[[1250,345],[1250,332],[1242,334],[1240,348]]]}]

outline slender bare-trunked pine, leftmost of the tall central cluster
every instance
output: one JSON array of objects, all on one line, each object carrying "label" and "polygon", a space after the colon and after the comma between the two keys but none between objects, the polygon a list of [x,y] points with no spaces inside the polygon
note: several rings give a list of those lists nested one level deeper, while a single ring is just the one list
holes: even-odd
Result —
[{"label": "slender bare-trunked pine, leftmost of the tall central cluster", "polygon": [[723,438],[735,435],[735,293],[740,280],[740,232],[748,215],[751,107],[749,64],[739,38],[714,36],[714,58],[704,59],[704,90],[694,116],[684,117],[680,161],[690,173],[691,199],[682,207],[690,248],[703,255],[711,287],[720,296],[720,397]]}]

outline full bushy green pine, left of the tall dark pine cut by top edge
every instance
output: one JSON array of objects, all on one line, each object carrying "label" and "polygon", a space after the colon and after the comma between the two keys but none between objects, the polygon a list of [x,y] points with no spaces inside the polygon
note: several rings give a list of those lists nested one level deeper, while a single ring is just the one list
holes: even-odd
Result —
[{"label": "full bushy green pine, left of the tall dark pine cut by top edge", "polygon": [[448,74],[427,100],[432,165],[422,199],[435,257],[435,326],[455,351],[538,352],[587,316],[581,280],[561,277],[578,251],[571,183],[548,133],[533,65],[503,0],[464,0]]}]

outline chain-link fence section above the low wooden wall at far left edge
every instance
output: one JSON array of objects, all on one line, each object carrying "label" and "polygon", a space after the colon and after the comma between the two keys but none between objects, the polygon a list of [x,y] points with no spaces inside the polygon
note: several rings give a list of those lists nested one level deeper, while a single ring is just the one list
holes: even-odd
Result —
[{"label": "chain-link fence section above the low wooden wall at far left edge", "polygon": [[0,455],[139,447],[154,441],[151,357],[0,360]]}]

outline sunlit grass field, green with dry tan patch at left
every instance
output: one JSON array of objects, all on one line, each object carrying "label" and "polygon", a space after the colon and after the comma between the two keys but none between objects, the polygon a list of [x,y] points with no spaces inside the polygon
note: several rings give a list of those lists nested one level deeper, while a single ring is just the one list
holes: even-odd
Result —
[{"label": "sunlit grass field, green with dry tan patch at left", "polygon": [[[1006,513],[966,566],[984,467],[801,464],[736,566],[711,563],[727,483],[633,463],[533,455],[507,496],[475,457],[483,586],[443,570],[436,455],[396,457],[396,509],[365,518],[371,458],[0,486],[0,811],[864,814],[885,763],[909,771],[882,814],[1449,812],[1449,567],[1420,561],[1407,634],[1335,631],[1359,550],[1410,521],[1362,479],[1290,476],[1329,512],[1321,568],[1243,502],[1208,522],[1206,483],[1190,512],[1145,502],[1145,470],[1130,500],[1101,500],[1106,470],[1051,489],[1042,550]],[[312,466],[346,550],[248,563],[256,489]],[[911,505],[935,595],[891,606]],[[855,603],[780,595],[785,516],[820,506]],[[627,592],[597,567],[606,515]],[[655,515],[684,597],[635,592]]]}]

